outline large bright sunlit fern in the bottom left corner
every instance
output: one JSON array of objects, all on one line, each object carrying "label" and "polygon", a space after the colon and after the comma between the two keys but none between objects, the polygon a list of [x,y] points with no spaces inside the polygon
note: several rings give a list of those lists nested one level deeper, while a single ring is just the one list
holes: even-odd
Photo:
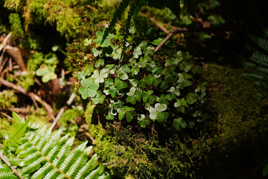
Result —
[{"label": "large bright sunlit fern in the bottom left corner", "polygon": [[[87,141],[72,150],[74,137],[68,138],[68,134],[61,137],[60,130],[51,135],[51,128],[39,128],[39,125],[30,124],[14,112],[13,118],[13,132],[3,147],[8,161],[17,167],[23,177],[109,178],[109,174],[103,173],[104,166],[96,167],[96,154],[88,160],[92,146],[86,148]],[[17,177],[5,164],[0,163],[2,178]]]}]

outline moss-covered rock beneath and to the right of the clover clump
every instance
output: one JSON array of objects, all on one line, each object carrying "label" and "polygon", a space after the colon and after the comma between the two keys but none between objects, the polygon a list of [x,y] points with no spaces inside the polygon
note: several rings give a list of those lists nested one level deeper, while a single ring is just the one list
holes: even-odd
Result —
[{"label": "moss-covered rock beneath and to the right of the clover clump", "polygon": [[122,178],[202,176],[204,166],[213,168],[207,166],[211,159],[237,152],[267,134],[267,110],[262,109],[254,85],[241,74],[240,69],[205,65],[203,75],[210,99],[202,110],[207,115],[188,130],[176,131],[169,125],[143,129],[106,121],[98,106],[88,104],[85,117],[95,152],[112,174]]}]

